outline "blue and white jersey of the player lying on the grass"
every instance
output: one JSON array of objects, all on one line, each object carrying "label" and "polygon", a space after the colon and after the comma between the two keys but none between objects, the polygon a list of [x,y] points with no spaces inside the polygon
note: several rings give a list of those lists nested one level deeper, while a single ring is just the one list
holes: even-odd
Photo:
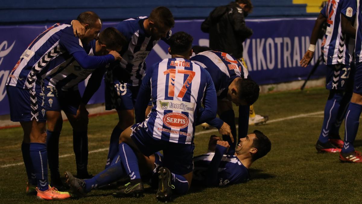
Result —
[{"label": "blue and white jersey of the player lying on the grass", "polygon": [[[215,153],[210,152],[194,157],[193,180],[205,181],[206,171],[210,167],[210,162]],[[218,168],[218,183],[215,185],[235,184],[249,179],[248,169],[240,162],[236,156],[224,154]]]}]

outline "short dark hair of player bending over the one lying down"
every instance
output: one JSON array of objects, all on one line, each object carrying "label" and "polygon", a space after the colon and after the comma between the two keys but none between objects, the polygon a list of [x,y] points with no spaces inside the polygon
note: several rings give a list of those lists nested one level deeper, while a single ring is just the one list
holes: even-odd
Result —
[{"label": "short dark hair of player bending over the one lying down", "polygon": [[259,85],[252,79],[242,79],[236,83],[237,94],[241,101],[247,102],[248,105],[253,105],[259,98]]}]

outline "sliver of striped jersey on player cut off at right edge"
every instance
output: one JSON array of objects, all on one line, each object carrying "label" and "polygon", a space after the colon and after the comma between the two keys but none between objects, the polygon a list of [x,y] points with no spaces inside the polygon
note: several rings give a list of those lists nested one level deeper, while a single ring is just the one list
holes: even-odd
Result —
[{"label": "sliver of striped jersey on player cut off at right edge", "polygon": [[355,44],[355,62],[362,62],[362,2],[361,0],[357,0],[357,5],[354,7],[357,9],[356,16],[356,44]]}]

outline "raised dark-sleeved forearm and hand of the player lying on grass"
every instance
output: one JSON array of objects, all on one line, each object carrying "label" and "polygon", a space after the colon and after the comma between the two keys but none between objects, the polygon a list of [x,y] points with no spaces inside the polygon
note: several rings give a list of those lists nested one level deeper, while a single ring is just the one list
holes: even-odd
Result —
[{"label": "raised dark-sleeved forearm and hand of the player lying on grass", "polygon": [[230,145],[227,141],[218,140],[216,142],[215,155],[210,162],[206,172],[206,185],[215,185],[218,182],[218,169],[223,155],[228,151]]}]

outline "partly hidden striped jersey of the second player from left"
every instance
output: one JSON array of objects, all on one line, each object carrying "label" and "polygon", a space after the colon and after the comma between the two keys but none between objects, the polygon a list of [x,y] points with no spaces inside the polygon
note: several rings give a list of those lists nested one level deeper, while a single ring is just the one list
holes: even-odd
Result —
[{"label": "partly hidden striped jersey of the second player from left", "polygon": [[[84,45],[83,48],[89,56],[94,56],[96,52],[96,40],[92,40],[88,45]],[[43,69],[39,73],[39,76],[44,79],[45,86],[52,86],[63,91],[76,90],[78,89],[77,85],[96,70],[96,67],[94,67],[94,69],[82,68],[71,55],[64,58],[64,60],[62,64],[59,64],[53,69]]]}]

